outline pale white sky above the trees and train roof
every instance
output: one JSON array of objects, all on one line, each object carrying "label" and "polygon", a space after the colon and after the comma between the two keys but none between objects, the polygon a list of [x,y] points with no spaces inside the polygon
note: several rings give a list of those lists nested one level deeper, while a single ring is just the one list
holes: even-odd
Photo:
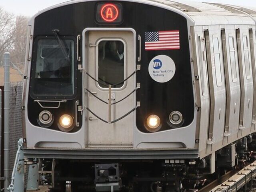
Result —
[{"label": "pale white sky above the trees and train roof", "polygon": [[[33,16],[38,11],[49,6],[66,2],[67,0],[0,0],[0,7],[15,15]],[[174,0],[175,1],[175,0]],[[256,0],[197,0],[224,4],[244,5],[256,7]]]}]

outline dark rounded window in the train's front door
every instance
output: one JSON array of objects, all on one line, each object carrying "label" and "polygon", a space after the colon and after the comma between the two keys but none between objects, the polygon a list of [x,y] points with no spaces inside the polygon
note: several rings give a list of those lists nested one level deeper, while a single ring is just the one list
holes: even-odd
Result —
[{"label": "dark rounded window in the train's front door", "polygon": [[[125,45],[120,40],[98,42],[98,80],[101,88],[124,80]],[[112,88],[121,88],[124,82]]]}]

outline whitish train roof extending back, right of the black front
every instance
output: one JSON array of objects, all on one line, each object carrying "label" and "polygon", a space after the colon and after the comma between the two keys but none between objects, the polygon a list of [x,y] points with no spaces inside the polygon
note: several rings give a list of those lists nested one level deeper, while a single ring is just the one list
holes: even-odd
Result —
[{"label": "whitish train roof extending back, right of the black front", "polygon": [[[185,12],[195,25],[249,24],[256,22],[256,8],[191,0],[152,0]],[[255,16],[255,18],[253,18]]]}]

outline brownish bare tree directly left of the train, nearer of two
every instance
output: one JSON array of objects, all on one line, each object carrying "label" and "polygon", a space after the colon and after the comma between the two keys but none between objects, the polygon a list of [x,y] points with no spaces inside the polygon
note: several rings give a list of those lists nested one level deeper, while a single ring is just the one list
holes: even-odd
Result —
[{"label": "brownish bare tree directly left of the train, nearer of two", "polygon": [[14,42],[10,51],[11,61],[13,63],[23,63],[25,60],[28,19],[24,16],[16,17]]}]

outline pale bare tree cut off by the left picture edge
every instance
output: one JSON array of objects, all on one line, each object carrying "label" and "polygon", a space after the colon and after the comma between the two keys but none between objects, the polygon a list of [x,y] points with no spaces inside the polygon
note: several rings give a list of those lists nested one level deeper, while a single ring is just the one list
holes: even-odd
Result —
[{"label": "pale bare tree cut off by the left picture edge", "polygon": [[0,61],[4,52],[10,50],[13,45],[15,28],[14,15],[0,7]]}]

